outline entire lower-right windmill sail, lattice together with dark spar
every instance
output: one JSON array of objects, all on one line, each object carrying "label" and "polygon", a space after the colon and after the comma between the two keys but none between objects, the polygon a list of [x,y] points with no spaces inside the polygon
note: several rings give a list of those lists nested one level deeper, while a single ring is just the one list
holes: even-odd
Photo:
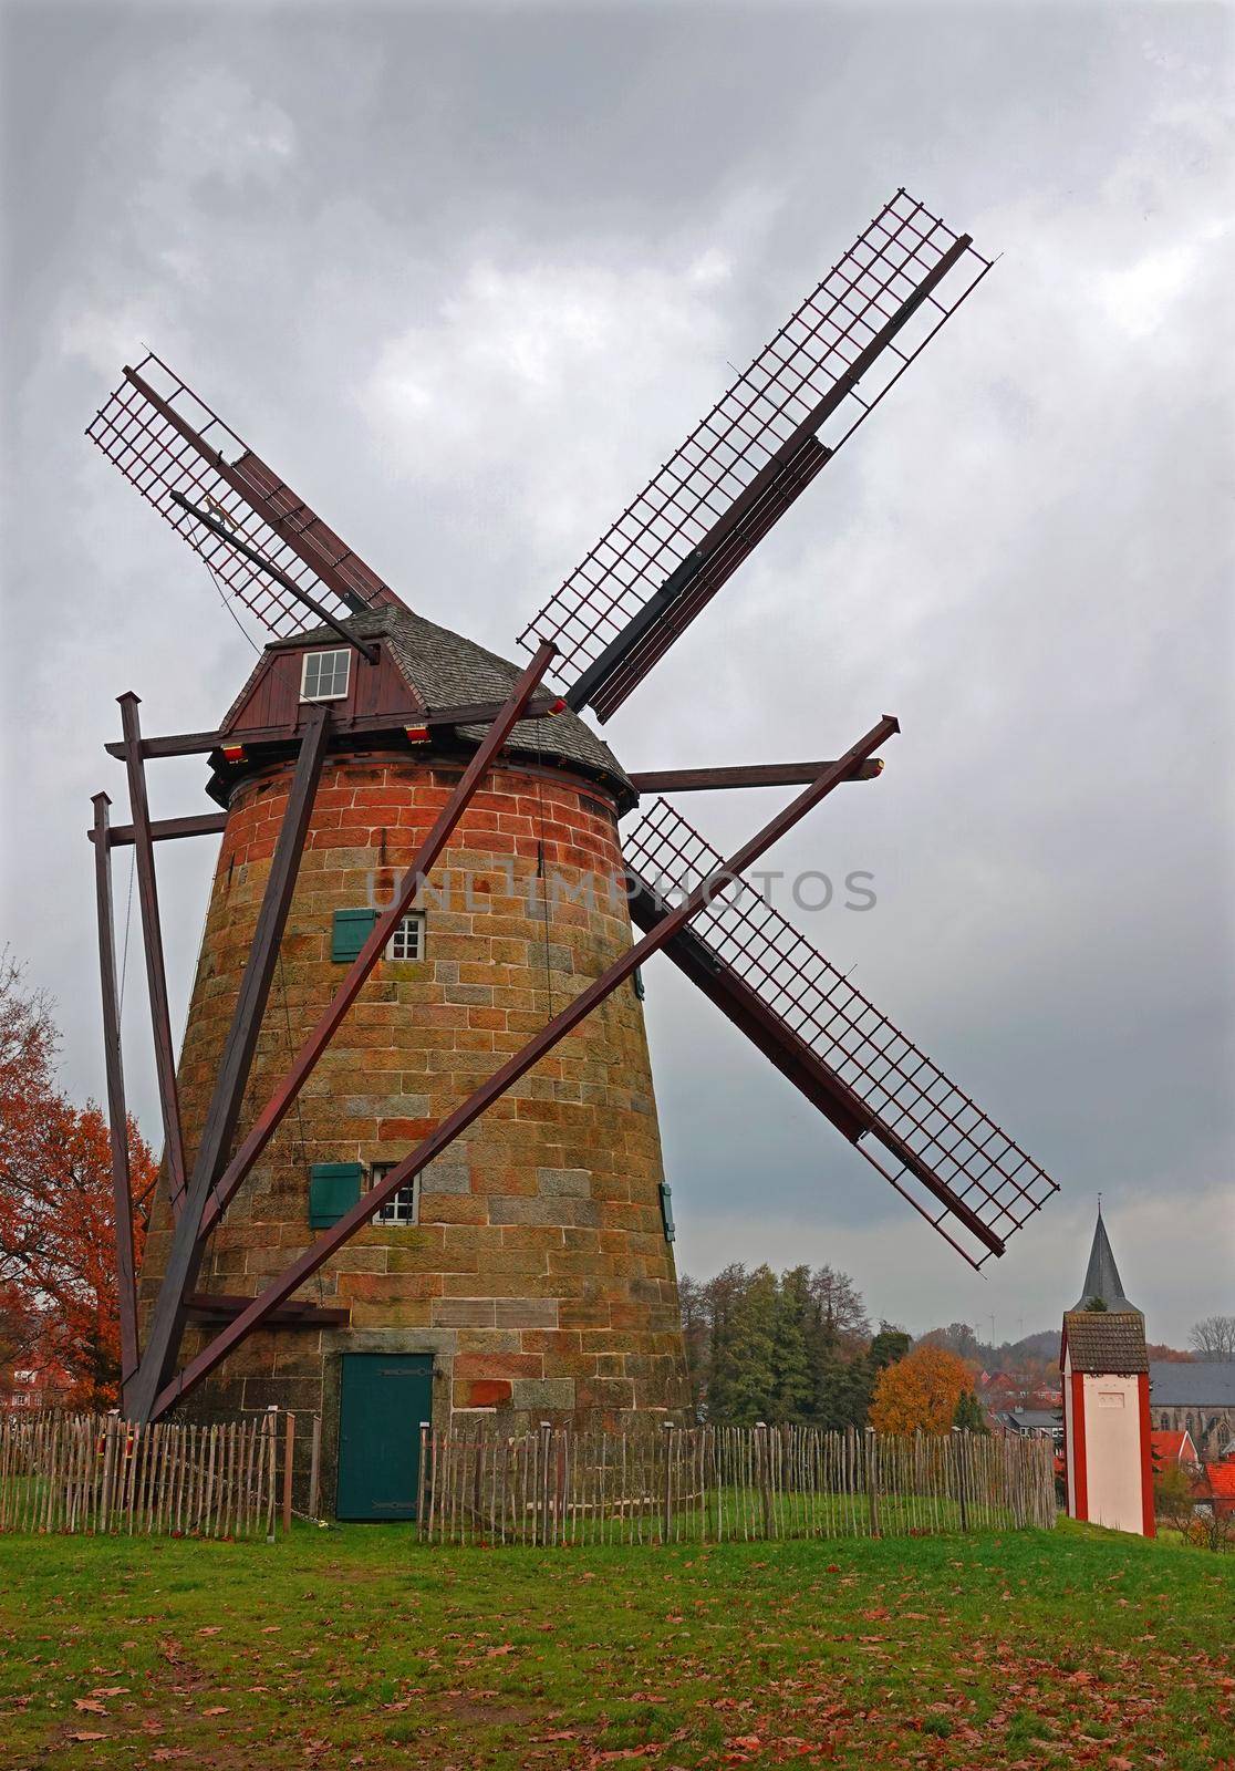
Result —
[{"label": "entire lower-right windmill sail, lattice together with dark spar", "polygon": [[[665,800],[623,839],[623,859],[641,928],[722,864]],[[752,887],[713,898],[665,953],[973,1266],[1058,1192]]]}]

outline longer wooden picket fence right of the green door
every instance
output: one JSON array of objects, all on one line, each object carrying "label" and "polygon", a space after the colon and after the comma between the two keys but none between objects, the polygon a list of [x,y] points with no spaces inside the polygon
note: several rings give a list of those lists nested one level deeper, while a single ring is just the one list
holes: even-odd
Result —
[{"label": "longer wooden picket fence right of the green door", "polygon": [[1049,1440],[816,1427],[660,1427],[515,1438],[421,1427],[433,1544],[895,1537],[1055,1525]]}]

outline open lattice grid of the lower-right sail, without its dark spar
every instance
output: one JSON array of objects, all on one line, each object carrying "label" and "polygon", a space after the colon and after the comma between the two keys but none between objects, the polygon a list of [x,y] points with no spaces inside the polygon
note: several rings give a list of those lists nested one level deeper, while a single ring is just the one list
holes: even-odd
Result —
[{"label": "open lattice grid of the lower-right sail, without its dark spar", "polygon": [[[623,832],[623,859],[669,901],[679,901],[724,862],[664,799]],[[908,1146],[1000,1241],[1058,1192],[1058,1183],[752,886],[736,882],[713,898],[690,930],[876,1116],[878,1125],[855,1148],[973,1266],[993,1250],[947,1204],[940,1208],[895,1149],[879,1144],[876,1153],[879,1128]]]}]

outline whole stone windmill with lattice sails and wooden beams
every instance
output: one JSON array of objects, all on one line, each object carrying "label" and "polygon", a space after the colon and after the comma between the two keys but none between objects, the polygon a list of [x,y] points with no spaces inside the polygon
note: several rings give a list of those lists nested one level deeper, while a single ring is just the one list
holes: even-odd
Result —
[{"label": "whole stone windmill with lattice sails and wooden beams", "polygon": [[[94,802],[111,1125],[110,855],[133,843],[165,1130],[140,1298],[113,1141],[133,1419],[322,1406],[364,1514],[364,1420],[681,1406],[639,988],[658,951],[973,1266],[1055,1192],[741,884],[878,777],[895,719],[830,762],[628,774],[580,717],[618,712],[987,269],[897,191],[533,616],[522,669],[409,609],[163,361],[126,368],[88,436],[271,632],[218,730],[145,737],[120,696],[131,824]],[[152,822],[145,765],[182,754],[223,811]],[[800,792],[727,857],[665,797],[756,785]],[[154,850],[205,832],[177,1068]],[[386,1401],[379,1367],[405,1381]]]}]

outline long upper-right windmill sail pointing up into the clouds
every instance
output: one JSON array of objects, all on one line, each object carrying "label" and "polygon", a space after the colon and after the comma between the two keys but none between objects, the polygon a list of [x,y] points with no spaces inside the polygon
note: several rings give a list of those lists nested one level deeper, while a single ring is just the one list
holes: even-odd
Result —
[{"label": "long upper-right windmill sail pointing up into the clouds", "polygon": [[[609,719],[989,269],[904,191],[885,204],[520,634],[559,648],[571,705]],[[610,664],[665,588],[669,606]]]}]

